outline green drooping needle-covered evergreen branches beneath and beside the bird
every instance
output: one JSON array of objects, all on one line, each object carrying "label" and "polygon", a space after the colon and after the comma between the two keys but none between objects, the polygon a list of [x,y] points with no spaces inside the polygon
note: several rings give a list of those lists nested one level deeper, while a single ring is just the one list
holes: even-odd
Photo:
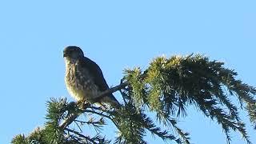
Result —
[{"label": "green drooping needle-covered evergreen branches beneath and beside the bird", "polygon": [[[218,122],[228,143],[230,130],[251,143],[238,111],[246,110],[250,121],[256,122],[256,89],[235,78],[238,74],[223,65],[200,54],[155,58],[146,70],[125,70],[121,84],[101,95],[118,90],[122,108],[51,98],[45,125],[28,136],[19,134],[12,143],[146,143],[149,131],[164,141],[188,144],[189,133],[178,127],[178,118],[188,115],[188,106]],[[233,97],[238,106],[231,101]],[[107,122],[117,129],[112,139],[106,139],[102,131]],[[85,131],[86,126],[93,126],[90,130],[94,133]]]}]

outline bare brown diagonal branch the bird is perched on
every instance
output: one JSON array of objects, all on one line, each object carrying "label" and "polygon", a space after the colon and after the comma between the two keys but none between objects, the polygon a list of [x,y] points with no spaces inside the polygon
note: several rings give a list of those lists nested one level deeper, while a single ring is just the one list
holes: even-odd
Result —
[{"label": "bare brown diagonal branch the bird is perched on", "polygon": [[[110,88],[109,90],[105,90],[102,92],[102,94],[99,94],[98,97],[96,97],[97,99],[98,98],[103,98],[105,97],[106,95],[108,94],[112,94],[114,93],[115,91],[118,91],[118,90],[121,90],[123,89],[124,87],[128,86],[128,82],[123,82],[121,83],[120,85],[118,86],[114,86],[112,88]],[[78,104],[78,103],[77,103]],[[89,103],[86,103],[86,104],[83,104],[82,105],[82,110],[86,110],[86,108],[88,108],[90,106]],[[81,113],[73,113],[73,114],[70,114],[70,116],[68,118],[66,118],[62,124],[59,126],[60,127],[60,130],[65,130],[67,126],[69,126],[72,122],[74,122],[74,120],[76,118],[78,118],[78,116],[80,115]]]}]

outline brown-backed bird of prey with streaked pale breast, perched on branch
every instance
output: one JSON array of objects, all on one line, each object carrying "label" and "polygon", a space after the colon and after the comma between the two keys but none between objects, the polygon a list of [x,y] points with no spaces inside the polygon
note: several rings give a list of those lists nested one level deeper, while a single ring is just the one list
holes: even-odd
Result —
[{"label": "brown-backed bird of prey with streaked pale breast, perched on branch", "polygon": [[106,103],[114,107],[120,106],[113,94],[97,98],[103,91],[108,90],[109,86],[99,66],[90,58],[86,58],[79,47],[66,47],[63,50],[63,57],[66,63],[66,87],[77,101],[86,100],[91,104]]}]

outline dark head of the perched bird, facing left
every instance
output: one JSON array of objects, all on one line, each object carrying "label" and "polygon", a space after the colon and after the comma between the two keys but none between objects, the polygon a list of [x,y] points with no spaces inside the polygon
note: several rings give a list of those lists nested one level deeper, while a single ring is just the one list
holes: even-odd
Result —
[{"label": "dark head of the perched bird, facing left", "polygon": [[78,46],[67,46],[63,50],[63,58],[67,58],[69,60],[77,60],[82,57],[84,57],[84,54]]}]

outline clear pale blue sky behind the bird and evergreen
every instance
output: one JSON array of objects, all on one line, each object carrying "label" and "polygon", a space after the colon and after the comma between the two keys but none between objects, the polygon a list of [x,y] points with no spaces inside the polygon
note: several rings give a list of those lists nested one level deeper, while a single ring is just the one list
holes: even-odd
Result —
[{"label": "clear pale blue sky behind the bird and evergreen", "polygon": [[[81,46],[110,86],[125,68],[146,68],[162,54],[192,52],[226,62],[256,86],[255,7],[255,1],[234,0],[0,1],[0,143],[42,126],[49,98],[72,100],[64,83],[65,46]],[[226,142],[216,122],[193,107],[189,111],[179,124],[192,142]],[[246,114],[243,119],[256,143]],[[234,144],[245,143],[240,134],[232,137]]]}]

